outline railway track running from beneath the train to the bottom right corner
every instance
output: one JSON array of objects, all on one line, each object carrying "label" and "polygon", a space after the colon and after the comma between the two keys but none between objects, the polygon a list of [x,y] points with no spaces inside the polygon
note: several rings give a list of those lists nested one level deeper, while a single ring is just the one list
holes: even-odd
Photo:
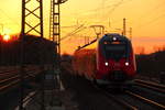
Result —
[{"label": "railway track running from beneath the train to the bottom right corner", "polygon": [[125,110],[165,110],[164,105],[129,90],[119,95],[109,90],[103,90],[103,95],[106,95],[110,100],[114,100]]}]

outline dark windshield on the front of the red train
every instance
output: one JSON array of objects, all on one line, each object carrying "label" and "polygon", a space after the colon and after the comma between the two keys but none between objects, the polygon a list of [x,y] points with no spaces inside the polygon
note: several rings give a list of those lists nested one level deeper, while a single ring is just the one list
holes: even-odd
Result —
[{"label": "dark windshield on the front of the red train", "polygon": [[125,44],[106,44],[105,45],[106,57],[113,58],[116,61],[127,57],[127,46]]}]

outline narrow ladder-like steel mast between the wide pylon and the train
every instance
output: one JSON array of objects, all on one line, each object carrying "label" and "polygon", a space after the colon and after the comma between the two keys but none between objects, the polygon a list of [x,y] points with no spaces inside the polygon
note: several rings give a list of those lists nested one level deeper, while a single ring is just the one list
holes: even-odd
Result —
[{"label": "narrow ladder-like steel mast between the wide pylon and the train", "polygon": [[66,1],[67,0],[51,0],[50,40],[56,43],[57,57],[54,63],[56,74],[61,72],[61,4]]}]

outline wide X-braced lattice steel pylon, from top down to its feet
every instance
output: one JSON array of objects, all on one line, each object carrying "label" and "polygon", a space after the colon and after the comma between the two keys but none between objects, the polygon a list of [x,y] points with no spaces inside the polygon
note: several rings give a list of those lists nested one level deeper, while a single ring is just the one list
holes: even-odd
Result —
[{"label": "wide X-braced lattice steel pylon, from top down to its feet", "polygon": [[[20,79],[21,79],[21,100],[19,110],[24,110],[24,37],[28,34],[37,35],[40,37],[43,36],[43,0],[22,0],[22,25],[21,25],[21,70],[20,70]],[[38,52],[41,57],[41,66],[42,66],[42,52]],[[41,67],[42,68],[42,67]],[[43,86],[43,82],[42,82]],[[44,89],[42,89],[42,97],[44,96]],[[44,109],[44,97],[42,98],[42,110]]]}]

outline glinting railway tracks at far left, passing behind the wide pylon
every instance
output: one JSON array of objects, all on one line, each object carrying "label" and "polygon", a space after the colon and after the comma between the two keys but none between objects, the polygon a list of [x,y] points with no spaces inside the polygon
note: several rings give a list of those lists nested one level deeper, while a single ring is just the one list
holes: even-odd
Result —
[{"label": "glinting railway tracks at far left, passing behind the wide pylon", "polygon": [[[41,73],[38,66],[25,66],[24,68],[24,79],[34,78]],[[15,67],[3,67],[0,69],[0,94],[3,94],[12,88],[19,86],[21,81],[20,68]]]}]

